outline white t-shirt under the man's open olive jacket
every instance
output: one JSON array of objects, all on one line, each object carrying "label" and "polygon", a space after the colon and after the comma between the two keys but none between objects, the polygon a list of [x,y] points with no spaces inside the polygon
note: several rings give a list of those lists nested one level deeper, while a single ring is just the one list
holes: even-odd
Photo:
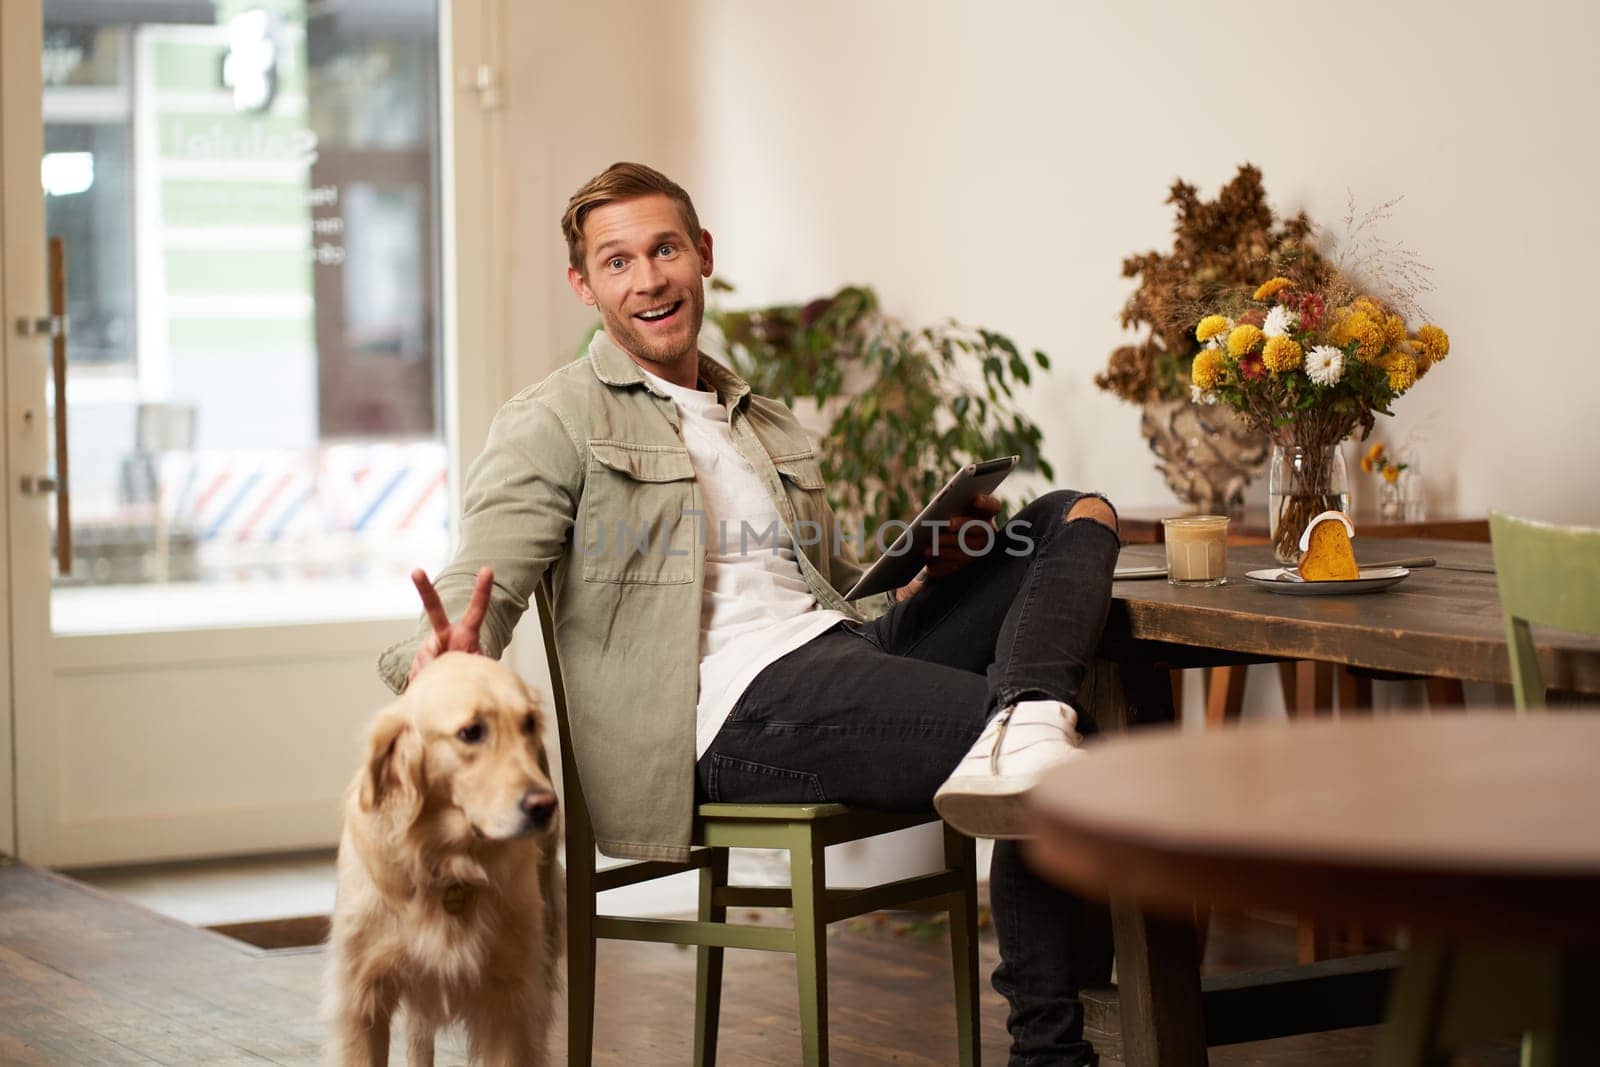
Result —
[{"label": "white t-shirt under the man's open olive jacket", "polygon": [[[717,394],[642,373],[678,408],[706,512],[698,760],[755,675],[848,616],[818,606],[778,509],[733,443],[728,408]],[[774,530],[778,536],[771,536]]]}]

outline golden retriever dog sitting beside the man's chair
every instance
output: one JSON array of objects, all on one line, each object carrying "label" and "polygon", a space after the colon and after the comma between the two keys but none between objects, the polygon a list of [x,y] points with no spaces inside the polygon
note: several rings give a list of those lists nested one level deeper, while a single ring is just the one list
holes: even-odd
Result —
[{"label": "golden retriever dog sitting beside the man's chair", "polygon": [[544,1067],[565,944],[544,710],[515,673],[446,653],[378,713],[344,800],[325,1016],[339,1064],[411,1067],[462,1022],[474,1062]]}]

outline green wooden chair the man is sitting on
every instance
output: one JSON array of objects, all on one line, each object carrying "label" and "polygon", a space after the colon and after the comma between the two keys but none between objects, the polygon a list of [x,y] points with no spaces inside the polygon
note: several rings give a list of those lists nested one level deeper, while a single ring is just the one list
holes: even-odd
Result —
[{"label": "green wooden chair the man is sitting on", "polygon": [[[800,1035],[808,1067],[827,1064],[827,925],[880,909],[944,910],[950,915],[955,966],[958,1062],[978,1065],[978,859],[971,838],[944,827],[944,870],[861,889],[829,889],[824,849],[938,816],[862,811],[845,805],[699,805],[688,864],[634,862],[595,870],[594,829],[573,758],[566,691],[544,585],[536,593],[550,664],[555,720],[562,734],[562,793],[566,805],[566,1062],[589,1067],[594,1053],[595,941],[653,941],[698,945],[694,968],[694,1064],[717,1061],[717,1017],[725,949],[792,952],[800,985]],[[690,773],[685,768],[685,773]],[[728,885],[730,848],[789,851],[790,888]],[[600,915],[606,889],[699,870],[696,920]],[[794,926],[728,921],[728,909],[787,907]]]}]

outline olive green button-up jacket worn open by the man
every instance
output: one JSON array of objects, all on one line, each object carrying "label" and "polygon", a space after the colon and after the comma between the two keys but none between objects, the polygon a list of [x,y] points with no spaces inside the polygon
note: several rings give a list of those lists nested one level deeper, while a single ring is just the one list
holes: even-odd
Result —
[{"label": "olive green button-up jacket worn open by the man", "polygon": [[[888,595],[840,597],[861,568],[848,542],[835,544],[822,470],[794,413],[704,355],[701,376],[728,406],[734,445],[771,494],[782,536],[798,542],[818,603],[856,619],[882,613]],[[454,619],[478,568],[494,568],[482,645],[496,657],[534,584],[549,582],[573,750],[608,856],[688,856],[706,569],[699,507],[677,408],[602,331],[586,358],[494,416],[467,470],[461,547],[434,579]],[[426,633],[424,619],[379,656],[395,693]]]}]

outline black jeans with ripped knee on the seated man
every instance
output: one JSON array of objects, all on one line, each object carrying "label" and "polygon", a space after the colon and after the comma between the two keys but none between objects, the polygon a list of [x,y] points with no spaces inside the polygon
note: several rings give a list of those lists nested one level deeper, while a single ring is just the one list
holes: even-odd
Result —
[{"label": "black jeans with ripped knee on the seated man", "polygon": [[[698,763],[730,803],[838,801],[923,811],[1000,709],[1030,697],[1078,709],[1110,605],[1117,536],[1064,522],[1080,493],[1046,493],[979,560],[864,625],[840,625],[766,667]],[[1042,881],[997,841],[995,989],[1011,1005],[1011,1067],[1090,1062],[1078,990],[1104,981],[1106,913]]]}]

